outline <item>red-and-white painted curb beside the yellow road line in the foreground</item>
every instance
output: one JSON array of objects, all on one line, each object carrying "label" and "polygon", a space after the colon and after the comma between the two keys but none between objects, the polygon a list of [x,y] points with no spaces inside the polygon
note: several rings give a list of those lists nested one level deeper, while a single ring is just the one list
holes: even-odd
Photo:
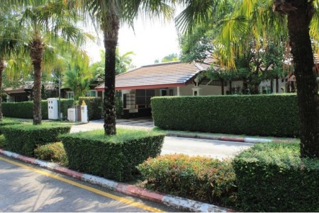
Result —
[{"label": "red-and-white painted curb beside the yellow road line in the foreground", "polygon": [[100,185],[104,188],[108,188],[117,192],[121,192],[125,195],[131,195],[134,197],[140,197],[147,200],[152,200],[155,202],[161,202],[164,205],[170,207],[175,207],[177,209],[189,210],[191,212],[235,212],[232,209],[226,209],[223,207],[218,207],[216,205],[210,205],[203,202],[198,202],[194,200],[189,200],[182,197],[172,196],[172,195],[163,195],[159,192],[152,192],[150,190],[145,190],[144,188],[138,188],[135,185],[128,185],[125,183],[118,183],[113,180],[108,180],[106,178],[101,178],[95,175],[89,175],[85,173],[79,173],[77,171],[72,171],[69,168],[65,168],[57,165],[56,163],[49,163],[47,161],[40,161],[38,159],[33,159],[27,156],[13,153],[11,151],[5,151],[0,149],[0,154],[4,156],[9,156],[13,159],[18,159],[26,163],[31,163],[33,165],[40,166],[42,168],[55,171],[57,173],[62,173],[70,177],[82,180],[87,183],[94,185]]}]

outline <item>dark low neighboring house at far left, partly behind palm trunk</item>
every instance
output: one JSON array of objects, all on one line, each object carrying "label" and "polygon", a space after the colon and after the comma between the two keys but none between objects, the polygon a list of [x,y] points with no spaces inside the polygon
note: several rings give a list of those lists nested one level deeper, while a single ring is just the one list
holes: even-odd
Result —
[{"label": "dark low neighboring house at far left, partly behind palm trunk", "polygon": [[[45,95],[50,97],[57,96],[54,82],[43,82]],[[23,85],[16,88],[5,88],[6,102],[21,102],[33,99],[33,81],[26,81]]]}]

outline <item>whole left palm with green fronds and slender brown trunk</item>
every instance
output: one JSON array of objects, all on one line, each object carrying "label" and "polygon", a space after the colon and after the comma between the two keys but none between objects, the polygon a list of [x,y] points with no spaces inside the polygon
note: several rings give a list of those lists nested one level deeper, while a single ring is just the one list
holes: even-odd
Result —
[{"label": "whole left palm with green fronds and slender brown trunk", "polygon": [[45,69],[45,61],[49,59],[52,62],[52,57],[55,57],[53,54],[49,57],[52,46],[47,44],[56,42],[58,38],[65,38],[68,42],[84,38],[81,30],[75,27],[78,16],[70,10],[67,1],[11,1],[11,6],[16,6],[11,8],[11,13],[20,18],[20,27],[25,33],[21,40],[28,43],[24,51],[28,52],[33,64],[33,124],[39,125],[42,122],[41,72]]}]

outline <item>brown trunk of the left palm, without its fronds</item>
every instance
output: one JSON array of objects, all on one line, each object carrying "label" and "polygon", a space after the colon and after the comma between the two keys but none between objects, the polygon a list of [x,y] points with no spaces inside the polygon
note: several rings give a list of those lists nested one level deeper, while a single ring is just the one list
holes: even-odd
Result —
[{"label": "brown trunk of the left palm, without its fronds", "polygon": [[41,63],[43,60],[43,42],[36,37],[30,44],[30,57],[33,64],[33,125],[42,123],[41,112]]}]

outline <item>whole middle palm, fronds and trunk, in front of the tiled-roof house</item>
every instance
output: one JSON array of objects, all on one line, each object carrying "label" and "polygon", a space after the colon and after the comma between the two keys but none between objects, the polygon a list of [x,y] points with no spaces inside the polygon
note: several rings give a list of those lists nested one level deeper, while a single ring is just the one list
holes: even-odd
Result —
[{"label": "whole middle palm, fronds and trunk, in front of the tiled-roof house", "polygon": [[104,132],[106,135],[116,134],[115,76],[116,46],[118,30],[121,23],[133,25],[138,12],[150,16],[172,17],[172,8],[162,0],[82,0],[75,1],[91,18],[99,22],[103,31],[105,48],[105,89],[104,89]]}]

